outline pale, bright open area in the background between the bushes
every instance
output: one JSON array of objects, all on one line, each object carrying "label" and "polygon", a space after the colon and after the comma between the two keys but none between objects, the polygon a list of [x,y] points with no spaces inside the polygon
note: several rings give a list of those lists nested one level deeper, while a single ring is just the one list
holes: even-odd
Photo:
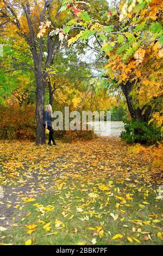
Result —
[{"label": "pale, bright open area in the background between the bushes", "polygon": [[[121,132],[124,131],[124,124],[122,121],[92,121],[88,123],[93,127],[94,132],[99,136],[120,136]],[[99,127],[99,129],[98,129]]]}]

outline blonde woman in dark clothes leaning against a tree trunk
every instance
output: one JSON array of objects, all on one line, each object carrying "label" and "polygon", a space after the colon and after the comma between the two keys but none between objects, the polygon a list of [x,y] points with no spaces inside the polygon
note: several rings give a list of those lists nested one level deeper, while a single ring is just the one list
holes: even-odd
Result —
[{"label": "blonde woman in dark clothes leaning against a tree trunk", "polygon": [[50,145],[50,146],[52,145],[51,141],[53,142],[53,145],[57,145],[53,138],[54,130],[53,130],[53,123],[52,123],[52,114],[53,114],[52,106],[50,104],[48,104],[46,107],[44,118],[43,118],[43,126],[45,129],[49,130],[48,145]]}]

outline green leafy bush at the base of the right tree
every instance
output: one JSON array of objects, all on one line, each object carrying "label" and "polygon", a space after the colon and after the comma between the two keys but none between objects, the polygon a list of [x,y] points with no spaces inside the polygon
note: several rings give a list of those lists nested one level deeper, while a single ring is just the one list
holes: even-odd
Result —
[{"label": "green leafy bush at the base of the right tree", "polygon": [[124,120],[124,130],[121,132],[122,141],[128,144],[141,143],[152,145],[160,142],[162,139],[161,127],[156,127],[154,124],[149,125],[146,122],[138,120]]}]

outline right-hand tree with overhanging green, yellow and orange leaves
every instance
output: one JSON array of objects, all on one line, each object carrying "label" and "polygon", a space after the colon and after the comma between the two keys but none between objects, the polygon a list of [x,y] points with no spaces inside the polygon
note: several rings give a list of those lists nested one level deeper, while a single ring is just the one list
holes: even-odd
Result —
[{"label": "right-hand tree with overhanging green, yellow and orange leaves", "polygon": [[80,29],[68,45],[86,43],[94,36],[108,62],[109,84],[122,89],[131,118],[148,123],[151,114],[161,112],[162,2],[145,2],[114,2],[108,20],[90,16],[78,1],[62,1],[62,8],[74,13],[65,31]]}]

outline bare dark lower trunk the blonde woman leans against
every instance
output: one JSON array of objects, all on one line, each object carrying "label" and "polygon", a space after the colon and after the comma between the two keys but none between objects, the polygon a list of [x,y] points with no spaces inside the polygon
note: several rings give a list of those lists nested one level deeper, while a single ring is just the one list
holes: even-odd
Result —
[{"label": "bare dark lower trunk the blonde woman leans against", "polygon": [[46,142],[45,129],[43,127],[46,83],[42,81],[40,73],[35,73],[35,78],[36,78],[36,145],[40,145]]}]

